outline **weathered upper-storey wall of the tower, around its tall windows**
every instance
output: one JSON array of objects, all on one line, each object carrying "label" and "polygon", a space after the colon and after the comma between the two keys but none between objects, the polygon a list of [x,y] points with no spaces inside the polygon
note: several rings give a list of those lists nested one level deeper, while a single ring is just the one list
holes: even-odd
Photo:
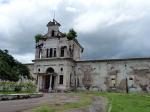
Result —
[{"label": "weathered upper-storey wall of the tower, around its tall windows", "polygon": [[[67,38],[49,38],[46,41],[40,40],[36,43],[36,46],[41,45],[40,48],[36,48],[35,58],[47,58],[47,49],[56,48],[56,57],[51,58],[73,58],[74,60],[80,60],[81,47],[74,40],[68,40]],[[60,57],[61,47],[64,47],[64,57]],[[41,57],[39,57],[39,52],[41,52]]]}]

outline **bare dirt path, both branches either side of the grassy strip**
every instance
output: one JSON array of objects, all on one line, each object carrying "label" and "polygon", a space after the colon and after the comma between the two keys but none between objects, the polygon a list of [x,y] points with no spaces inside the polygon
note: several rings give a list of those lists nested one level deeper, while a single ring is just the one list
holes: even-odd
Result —
[{"label": "bare dirt path, both branches either side of the grassy strip", "polygon": [[[80,96],[69,95],[66,93],[44,94],[40,98],[0,101],[0,112],[31,112],[32,109],[48,104],[48,105],[64,105],[67,103],[76,103],[80,101]],[[107,100],[103,97],[92,97],[92,105],[88,108],[70,110],[66,112],[106,112]]]}]

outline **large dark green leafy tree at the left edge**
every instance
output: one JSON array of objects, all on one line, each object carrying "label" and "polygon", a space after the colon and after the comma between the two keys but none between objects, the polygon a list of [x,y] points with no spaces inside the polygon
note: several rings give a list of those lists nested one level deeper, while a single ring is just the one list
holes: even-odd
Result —
[{"label": "large dark green leafy tree at the left edge", "polygon": [[0,79],[18,81],[21,77],[32,79],[29,69],[9,55],[8,50],[0,50]]}]

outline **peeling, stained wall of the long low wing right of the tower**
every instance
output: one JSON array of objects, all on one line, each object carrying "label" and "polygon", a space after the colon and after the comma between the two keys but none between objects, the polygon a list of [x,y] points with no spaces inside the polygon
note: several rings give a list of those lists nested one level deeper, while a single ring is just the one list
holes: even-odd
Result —
[{"label": "peeling, stained wall of the long low wing right of the tower", "polygon": [[76,74],[79,89],[85,89],[87,75],[91,90],[150,91],[150,59],[78,61]]}]

